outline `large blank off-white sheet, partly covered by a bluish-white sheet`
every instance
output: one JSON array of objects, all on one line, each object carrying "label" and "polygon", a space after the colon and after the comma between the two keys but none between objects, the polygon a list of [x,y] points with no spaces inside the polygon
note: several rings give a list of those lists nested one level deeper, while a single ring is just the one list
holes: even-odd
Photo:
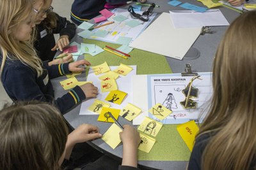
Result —
[{"label": "large blank off-white sheet, partly covered by a bluish-white sheet", "polygon": [[198,38],[201,28],[175,29],[170,14],[162,13],[130,46],[182,60]]}]

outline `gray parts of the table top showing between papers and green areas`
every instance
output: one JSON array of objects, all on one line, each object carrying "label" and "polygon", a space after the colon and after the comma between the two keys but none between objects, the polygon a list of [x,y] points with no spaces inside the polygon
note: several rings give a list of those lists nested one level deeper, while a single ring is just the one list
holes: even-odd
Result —
[{"label": "gray parts of the table top showing between papers and green areas", "polygon": [[[170,10],[184,10],[183,8],[173,7],[169,4],[167,4],[168,0],[158,0],[158,1],[148,1],[148,3],[156,3],[160,6],[160,8],[155,8],[154,12],[162,13],[162,12],[169,12]],[[188,1],[188,0],[181,0],[183,3],[193,3],[198,6],[203,6],[202,3],[199,3],[198,1]],[[142,10],[147,10],[147,7],[143,7]],[[228,8],[220,8],[221,12],[225,17],[227,18],[228,22],[232,22],[234,18],[239,16],[239,13],[236,11],[232,11]],[[212,31],[214,31],[214,34],[205,34],[201,35],[196,39],[195,43],[191,47],[191,50],[189,50],[188,53],[186,53],[186,57],[188,59],[183,60],[177,60],[172,59],[170,57],[166,57],[166,60],[168,61],[170,67],[172,68],[173,73],[181,73],[184,72],[185,64],[191,64],[193,71],[196,72],[207,72],[211,71],[212,69],[212,60],[214,58],[214,54],[216,52],[216,49],[218,47],[218,44],[220,43],[221,37],[225,33],[225,30],[227,29],[227,26],[221,26],[221,27],[211,27]],[[82,38],[75,37],[72,39],[72,41],[76,41],[77,43],[82,42]],[[189,57],[195,55],[195,52],[200,52],[200,57],[197,59],[189,59]],[[83,56],[80,56],[81,59]],[[59,81],[65,80],[66,77],[62,76],[59,78],[55,78],[52,81],[52,85],[55,89],[55,97],[61,97],[63,94],[67,93],[67,91],[63,90],[60,86]],[[84,81],[84,74],[77,76],[77,80]],[[86,102],[86,101],[85,101]],[[73,108],[71,111],[66,113],[64,117],[67,119],[67,121],[72,125],[72,127],[76,128],[80,124],[94,124],[99,126],[100,132],[104,134],[108,130],[111,124],[108,123],[102,123],[97,121],[97,115],[79,115],[81,104],[77,105],[75,108]],[[120,121],[120,124],[131,124],[131,122],[128,122],[124,118],[120,117],[118,118],[118,121]],[[122,145],[119,145],[115,150],[110,148],[102,139],[95,139],[94,141],[89,142],[90,145],[93,147],[101,150],[104,153],[110,154],[113,157],[119,157],[122,158]],[[168,148],[166,148],[168,149]],[[138,164],[145,167],[150,167],[151,169],[186,169],[186,165],[188,162],[186,161],[139,161]]]}]

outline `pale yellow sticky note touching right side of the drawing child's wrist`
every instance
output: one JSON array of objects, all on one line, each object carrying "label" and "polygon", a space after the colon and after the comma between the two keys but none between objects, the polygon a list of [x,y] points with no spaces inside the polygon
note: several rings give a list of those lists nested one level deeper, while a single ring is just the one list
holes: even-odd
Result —
[{"label": "pale yellow sticky note touching right side of the drawing child's wrist", "polygon": [[156,139],[150,138],[149,136],[145,134],[140,133],[140,145],[139,145],[139,150],[143,152],[149,153],[150,150],[153,148],[154,144],[156,143]]}]

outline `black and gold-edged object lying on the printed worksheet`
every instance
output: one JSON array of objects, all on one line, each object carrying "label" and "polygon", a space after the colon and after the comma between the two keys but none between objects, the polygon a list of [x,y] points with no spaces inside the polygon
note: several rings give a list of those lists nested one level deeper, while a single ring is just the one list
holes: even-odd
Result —
[{"label": "black and gold-edged object lying on the printed worksheet", "polygon": [[[188,85],[186,86],[185,89],[182,90],[182,93],[186,97],[184,101],[181,101],[180,104],[185,108],[185,109],[195,109],[197,107],[197,103],[193,101],[191,98],[197,98],[198,97],[198,89],[192,86],[192,83],[196,78],[199,78],[200,76],[195,76],[191,78],[189,81]],[[202,80],[202,79],[200,79]]]}]

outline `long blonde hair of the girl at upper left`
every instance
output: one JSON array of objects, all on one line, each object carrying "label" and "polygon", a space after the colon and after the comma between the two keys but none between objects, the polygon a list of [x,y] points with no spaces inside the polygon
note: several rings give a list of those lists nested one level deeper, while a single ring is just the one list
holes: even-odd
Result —
[{"label": "long blonde hair of the girl at upper left", "polygon": [[0,48],[3,55],[0,72],[3,71],[6,59],[10,59],[20,60],[26,66],[35,69],[38,76],[42,75],[42,61],[33,48],[35,32],[33,31],[29,41],[17,41],[11,31],[26,18],[35,17],[33,0],[0,0],[0,3]]}]

